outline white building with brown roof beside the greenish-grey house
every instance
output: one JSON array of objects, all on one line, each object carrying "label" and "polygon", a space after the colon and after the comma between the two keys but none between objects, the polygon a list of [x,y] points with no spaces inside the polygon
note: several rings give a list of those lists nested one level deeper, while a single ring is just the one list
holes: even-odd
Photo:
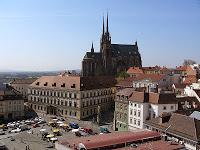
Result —
[{"label": "white building with brown roof beside the greenish-grey house", "polygon": [[129,98],[128,127],[129,130],[143,129],[144,121],[158,117],[163,113],[178,109],[175,94],[144,93],[134,91]]}]

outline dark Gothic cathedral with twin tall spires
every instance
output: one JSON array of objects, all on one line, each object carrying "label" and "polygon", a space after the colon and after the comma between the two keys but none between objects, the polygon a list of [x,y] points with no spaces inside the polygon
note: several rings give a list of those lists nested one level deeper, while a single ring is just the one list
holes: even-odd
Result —
[{"label": "dark Gothic cathedral with twin tall spires", "polygon": [[106,29],[104,28],[100,40],[100,52],[95,52],[93,43],[91,50],[86,52],[82,61],[83,76],[116,76],[129,67],[142,67],[142,60],[137,42],[133,45],[112,44],[108,27],[108,15]]}]

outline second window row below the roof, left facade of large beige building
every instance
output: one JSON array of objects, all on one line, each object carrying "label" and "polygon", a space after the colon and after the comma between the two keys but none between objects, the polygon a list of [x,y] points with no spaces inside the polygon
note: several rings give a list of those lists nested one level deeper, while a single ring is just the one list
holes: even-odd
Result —
[{"label": "second window row below the roof, left facade of large beige building", "polygon": [[54,105],[61,105],[61,106],[68,106],[68,107],[77,107],[77,102],[72,101],[64,101],[60,99],[49,99],[48,97],[35,97],[31,96],[30,100],[33,102],[40,102],[40,103],[46,103],[46,104],[54,104]]}]

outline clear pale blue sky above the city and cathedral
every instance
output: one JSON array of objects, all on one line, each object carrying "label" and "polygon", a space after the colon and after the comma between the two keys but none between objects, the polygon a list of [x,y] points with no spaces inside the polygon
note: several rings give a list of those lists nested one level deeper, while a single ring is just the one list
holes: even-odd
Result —
[{"label": "clear pale blue sky above the city and cathedral", "polygon": [[0,70],[80,69],[107,10],[112,43],[137,40],[143,66],[200,63],[199,0],[0,0]]}]

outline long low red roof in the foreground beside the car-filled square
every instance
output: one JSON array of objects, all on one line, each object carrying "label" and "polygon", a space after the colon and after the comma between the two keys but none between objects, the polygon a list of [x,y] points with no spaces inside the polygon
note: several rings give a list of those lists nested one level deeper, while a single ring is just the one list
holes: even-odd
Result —
[{"label": "long low red roof in the foreground beside the car-filled square", "polygon": [[99,147],[106,147],[117,145],[121,143],[133,142],[142,139],[159,138],[160,134],[155,131],[142,131],[142,132],[113,132],[109,134],[94,135],[89,137],[81,137],[70,139],[68,141],[59,141],[60,144],[67,147],[77,146],[82,143],[88,150]]}]

